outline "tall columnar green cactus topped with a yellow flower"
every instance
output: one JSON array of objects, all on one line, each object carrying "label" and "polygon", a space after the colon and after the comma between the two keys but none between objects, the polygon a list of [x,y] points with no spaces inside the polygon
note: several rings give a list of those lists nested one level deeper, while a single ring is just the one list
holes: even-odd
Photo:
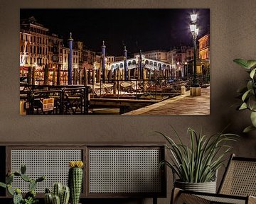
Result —
[{"label": "tall columnar green cactus topped with a yellow flower", "polygon": [[82,188],[82,161],[70,162],[68,172],[68,186],[70,188],[70,201],[78,204]]}]

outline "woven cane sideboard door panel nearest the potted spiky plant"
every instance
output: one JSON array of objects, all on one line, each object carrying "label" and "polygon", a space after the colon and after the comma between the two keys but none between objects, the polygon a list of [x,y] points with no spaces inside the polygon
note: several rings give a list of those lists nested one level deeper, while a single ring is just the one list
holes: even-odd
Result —
[{"label": "woven cane sideboard door panel nearest the potted spiky plant", "polygon": [[90,149],[89,193],[161,192],[159,149]]}]

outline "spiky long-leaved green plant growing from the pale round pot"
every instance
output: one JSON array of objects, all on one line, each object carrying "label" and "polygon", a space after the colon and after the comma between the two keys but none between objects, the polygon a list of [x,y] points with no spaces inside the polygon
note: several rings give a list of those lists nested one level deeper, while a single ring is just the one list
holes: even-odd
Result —
[{"label": "spiky long-leaved green plant growing from the pale round pot", "polygon": [[[173,128],[174,130],[174,128]],[[174,135],[178,142],[174,142],[171,137],[157,132],[163,136],[168,145],[166,148],[171,152],[171,161],[162,161],[161,166],[166,164],[174,174],[178,176],[179,181],[189,183],[204,183],[214,181],[215,173],[225,161],[225,154],[232,148],[225,143],[235,141],[238,135],[217,133],[210,137],[202,134],[202,131],[196,133],[192,128],[188,128],[190,144],[185,145],[181,137],[174,130]]]}]

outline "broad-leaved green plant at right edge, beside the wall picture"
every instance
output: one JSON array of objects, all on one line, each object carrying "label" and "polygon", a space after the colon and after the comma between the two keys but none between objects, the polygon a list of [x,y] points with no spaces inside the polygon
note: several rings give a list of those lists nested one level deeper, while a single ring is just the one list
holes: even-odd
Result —
[{"label": "broad-leaved green plant at right edge, beside the wall picture", "polygon": [[256,130],[256,60],[235,59],[233,61],[245,68],[249,74],[246,86],[238,90],[242,99],[238,110],[247,109],[250,111],[252,125],[243,130],[243,132],[250,132],[251,130]]}]

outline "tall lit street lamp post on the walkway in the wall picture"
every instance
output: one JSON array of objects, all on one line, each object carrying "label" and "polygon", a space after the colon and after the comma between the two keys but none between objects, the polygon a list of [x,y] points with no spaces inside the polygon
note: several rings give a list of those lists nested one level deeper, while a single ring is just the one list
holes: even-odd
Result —
[{"label": "tall lit street lamp post on the walkway in the wall picture", "polygon": [[192,87],[199,87],[197,73],[196,73],[196,38],[199,28],[196,28],[197,14],[191,14],[190,30],[193,35],[193,85]]}]

